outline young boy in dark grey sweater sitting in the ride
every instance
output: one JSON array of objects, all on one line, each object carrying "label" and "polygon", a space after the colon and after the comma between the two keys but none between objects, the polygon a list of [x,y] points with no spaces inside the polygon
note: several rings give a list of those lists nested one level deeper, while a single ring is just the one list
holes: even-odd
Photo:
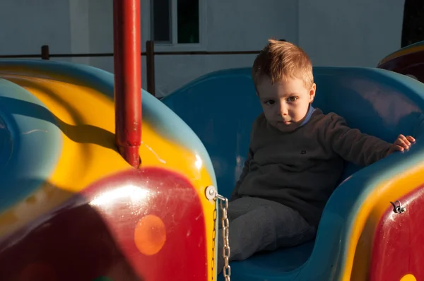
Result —
[{"label": "young boy in dark grey sweater sitting in the ride", "polygon": [[[228,207],[230,261],[313,239],[343,160],[366,166],[415,142],[400,135],[387,143],[312,107],[317,86],[311,61],[289,42],[269,40],[254,61],[252,78],[263,112],[252,126],[247,161]],[[218,249],[219,273],[222,236]]]}]

